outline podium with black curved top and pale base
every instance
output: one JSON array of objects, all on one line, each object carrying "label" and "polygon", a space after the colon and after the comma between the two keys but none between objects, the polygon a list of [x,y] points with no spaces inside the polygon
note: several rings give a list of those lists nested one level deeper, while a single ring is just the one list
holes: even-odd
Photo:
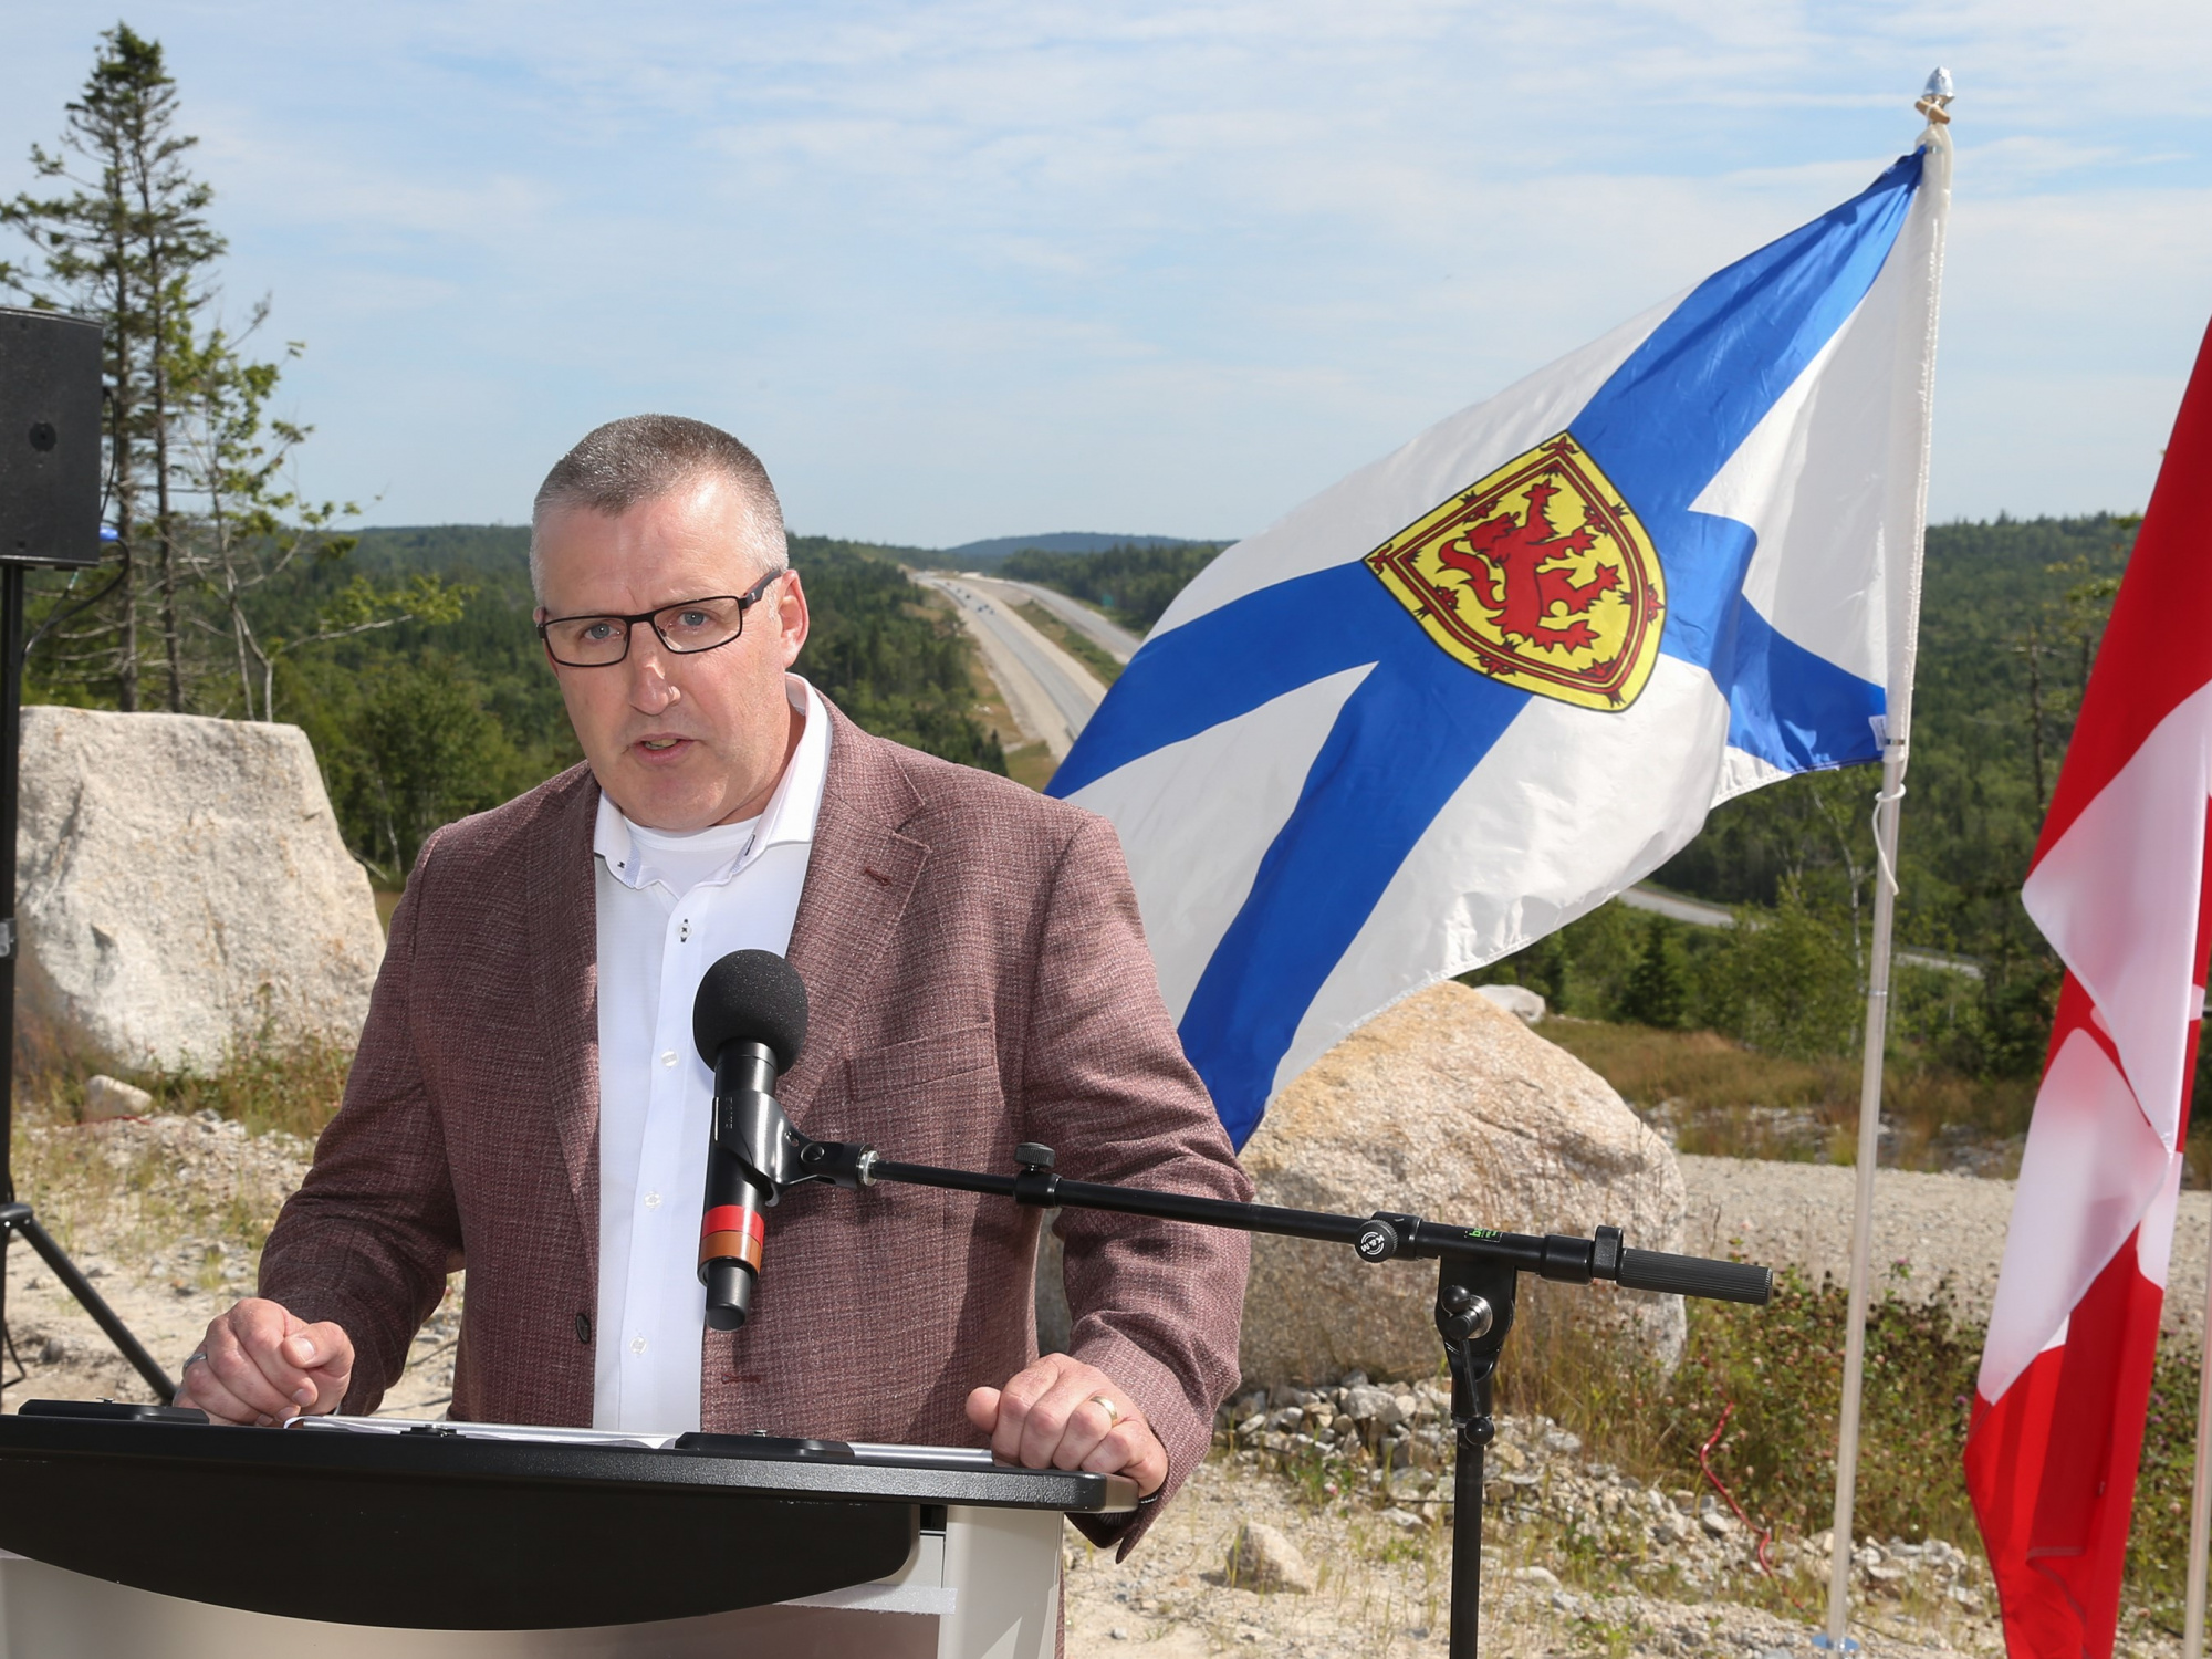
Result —
[{"label": "podium with black curved top and pale base", "polygon": [[389,1418],[0,1418],[0,1655],[1033,1659],[1060,1517],[987,1451]]}]

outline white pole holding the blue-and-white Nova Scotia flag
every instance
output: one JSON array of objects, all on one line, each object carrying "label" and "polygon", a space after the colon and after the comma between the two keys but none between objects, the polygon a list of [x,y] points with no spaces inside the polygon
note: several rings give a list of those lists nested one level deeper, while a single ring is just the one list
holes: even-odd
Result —
[{"label": "white pole holding the blue-and-white Nova Scotia flag", "polygon": [[[1929,259],[1929,314],[1927,338],[1920,343],[1920,372],[1933,376],[1936,369],[1936,312],[1942,294],[1942,241],[1951,199],[1951,73],[1938,69],[1929,75],[1927,91],[1913,106],[1929,119],[1922,135],[1927,144],[1927,173],[1922,188],[1933,192],[1933,239]],[[1922,378],[1922,411],[1933,396],[1933,383]],[[1867,962],[1867,1033],[1858,1073],[1858,1188],[1851,1206],[1851,1301],[1843,1338],[1843,1407],[1836,1425],[1836,1546],[1829,1555],[1827,1577],[1827,1632],[1832,1652],[1856,1646],[1845,1635],[1851,1613],[1851,1504],[1858,1495],[1858,1416],[1863,1400],[1863,1367],[1867,1360],[1867,1301],[1874,1283],[1874,1164],[1882,1146],[1882,1046],[1889,1035],[1889,958],[1898,907],[1898,810],[1905,801],[1905,761],[1909,754],[1913,717],[1913,655],[1920,633],[1920,544],[1927,524],[1929,498],[1929,449],[1927,425],[1920,431],[1920,480],[1918,511],[1913,515],[1916,544],[1911,549],[1911,593],[1902,608],[1902,639],[1896,641],[1889,721],[1882,732],[1882,792],[1874,799],[1874,858],[1878,867],[1874,885],[1874,953]]]}]

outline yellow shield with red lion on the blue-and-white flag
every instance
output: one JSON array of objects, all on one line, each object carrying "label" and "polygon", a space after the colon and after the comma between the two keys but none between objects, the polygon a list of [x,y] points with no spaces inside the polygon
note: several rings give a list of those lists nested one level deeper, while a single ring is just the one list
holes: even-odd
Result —
[{"label": "yellow shield with red lion on the blue-and-white flag", "polygon": [[1537,697],[1628,708],[1659,655],[1659,553],[1566,431],[1407,524],[1367,568],[1438,646]]}]

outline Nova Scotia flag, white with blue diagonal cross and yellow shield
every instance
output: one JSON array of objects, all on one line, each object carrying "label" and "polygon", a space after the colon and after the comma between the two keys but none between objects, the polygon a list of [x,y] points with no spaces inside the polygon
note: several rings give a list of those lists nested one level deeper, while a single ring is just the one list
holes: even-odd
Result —
[{"label": "Nova Scotia flag, white with blue diagonal cross and yellow shield", "polygon": [[[1902,737],[1949,144],[1214,560],[1051,783],[1230,1137],[1391,1002]],[[1887,721],[1887,726],[1885,726]]]}]

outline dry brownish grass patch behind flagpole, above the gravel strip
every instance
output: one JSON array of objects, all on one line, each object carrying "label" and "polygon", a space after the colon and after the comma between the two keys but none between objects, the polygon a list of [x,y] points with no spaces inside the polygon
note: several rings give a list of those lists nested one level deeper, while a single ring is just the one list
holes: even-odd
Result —
[{"label": "dry brownish grass patch behind flagpole, above the gravel strip", "polygon": [[[1540,1031],[1613,1084],[1681,1152],[1854,1164],[1858,1057],[1790,1060],[1712,1031],[1546,1020]],[[1969,1079],[1891,1062],[1882,1077],[1882,1164],[1902,1170],[2020,1172],[2033,1077]]]}]

